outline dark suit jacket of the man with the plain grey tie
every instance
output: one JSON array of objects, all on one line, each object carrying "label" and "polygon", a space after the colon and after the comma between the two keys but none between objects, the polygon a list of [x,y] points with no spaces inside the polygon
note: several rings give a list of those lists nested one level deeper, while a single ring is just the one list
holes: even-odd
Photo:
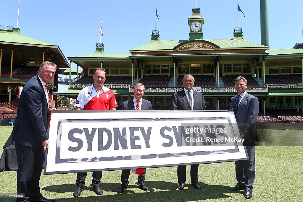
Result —
[{"label": "dark suit jacket of the man with the plain grey tie", "polygon": [[[206,109],[203,93],[193,90],[193,97],[194,97],[194,108],[193,108],[194,110]],[[172,95],[171,109],[191,110],[184,90],[175,92]]]}]

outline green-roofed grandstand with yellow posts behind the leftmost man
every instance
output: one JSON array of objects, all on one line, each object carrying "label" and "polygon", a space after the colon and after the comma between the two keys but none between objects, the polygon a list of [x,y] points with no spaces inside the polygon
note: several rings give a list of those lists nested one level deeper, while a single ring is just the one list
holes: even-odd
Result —
[{"label": "green-roofed grandstand with yellow posts behind the leftmost man", "polygon": [[58,84],[68,83],[58,79],[59,74],[69,74],[65,70],[70,67],[59,46],[22,35],[19,28],[0,26],[0,125],[7,125],[2,119],[16,118],[22,88],[44,61],[57,64],[54,80],[48,83],[52,95]]}]

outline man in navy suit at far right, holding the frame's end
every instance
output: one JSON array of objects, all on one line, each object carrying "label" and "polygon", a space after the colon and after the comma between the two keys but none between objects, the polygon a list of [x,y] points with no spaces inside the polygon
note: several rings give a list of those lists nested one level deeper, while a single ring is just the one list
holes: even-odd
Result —
[{"label": "man in navy suit at far right, holding the frame's end", "polygon": [[238,95],[231,98],[230,109],[234,111],[236,120],[241,131],[243,145],[246,147],[249,159],[235,161],[236,178],[238,183],[231,191],[245,190],[244,197],[252,197],[252,184],[255,180],[255,142],[259,141],[256,121],[259,112],[258,98],[246,92],[247,81],[244,77],[235,79]]}]

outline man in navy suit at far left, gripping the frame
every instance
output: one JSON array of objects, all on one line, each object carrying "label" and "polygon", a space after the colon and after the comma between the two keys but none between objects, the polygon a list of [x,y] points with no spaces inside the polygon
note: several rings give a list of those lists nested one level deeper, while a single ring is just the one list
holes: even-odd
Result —
[{"label": "man in navy suit at far left, gripping the frame", "polygon": [[16,201],[49,202],[40,193],[39,180],[42,172],[43,150],[49,146],[47,128],[52,110],[49,106],[47,83],[53,80],[57,65],[44,62],[38,74],[25,84],[12,131],[18,161],[17,194],[25,198]]}]

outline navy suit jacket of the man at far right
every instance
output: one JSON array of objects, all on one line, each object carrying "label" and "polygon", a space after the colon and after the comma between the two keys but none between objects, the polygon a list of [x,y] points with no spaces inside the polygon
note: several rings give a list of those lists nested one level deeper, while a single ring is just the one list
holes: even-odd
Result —
[{"label": "navy suit jacket of the man at far right", "polygon": [[[237,96],[238,95],[231,98],[229,109],[235,109]],[[246,95],[242,98],[241,103],[239,104],[237,113],[235,114],[239,129],[242,134],[245,135],[245,142],[259,141],[256,129],[258,113],[258,98],[246,93]]]}]

